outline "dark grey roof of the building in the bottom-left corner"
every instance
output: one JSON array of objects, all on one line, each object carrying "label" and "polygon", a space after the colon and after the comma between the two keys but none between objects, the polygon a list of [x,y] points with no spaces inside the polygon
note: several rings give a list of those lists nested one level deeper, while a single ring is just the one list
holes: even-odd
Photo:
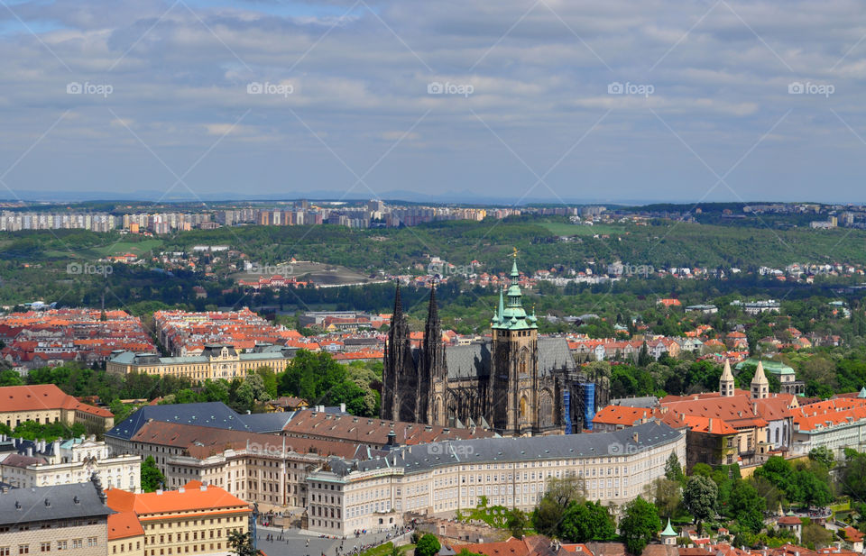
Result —
[{"label": "dark grey roof of the building in the bottom-left corner", "polygon": [[55,487],[10,488],[0,493],[0,524],[3,525],[105,517],[111,513],[90,481]]}]

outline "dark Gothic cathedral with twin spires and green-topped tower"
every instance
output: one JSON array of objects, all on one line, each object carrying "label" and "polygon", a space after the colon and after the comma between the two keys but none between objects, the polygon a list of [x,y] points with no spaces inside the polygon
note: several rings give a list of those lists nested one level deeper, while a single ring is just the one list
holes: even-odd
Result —
[{"label": "dark Gothic cathedral with twin spires and green-topped tower", "polygon": [[[578,372],[564,338],[539,338],[527,314],[515,258],[484,342],[446,346],[436,288],[419,346],[410,342],[400,285],[385,345],[382,419],[483,427],[503,436],[580,432],[592,421],[594,383]],[[576,429],[576,430],[573,430]]]}]

